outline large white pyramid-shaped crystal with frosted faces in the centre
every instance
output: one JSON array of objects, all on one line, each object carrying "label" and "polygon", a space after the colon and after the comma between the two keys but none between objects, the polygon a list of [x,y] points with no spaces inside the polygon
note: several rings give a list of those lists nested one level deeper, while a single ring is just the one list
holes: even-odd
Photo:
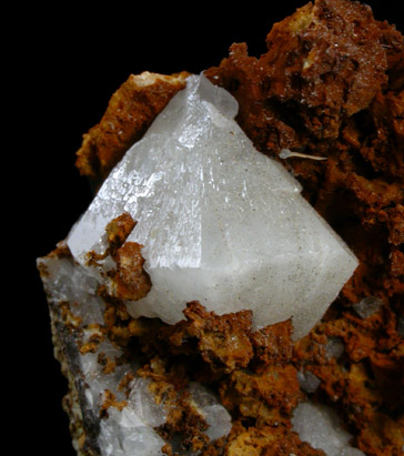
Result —
[{"label": "large white pyramid-shaped crystal with frosted faces in the centre", "polygon": [[152,288],[127,302],[132,316],[183,318],[200,301],[216,314],[253,311],[255,328],[293,317],[306,334],[357,265],[300,195],[301,185],[257,152],[235,123],[238,103],[203,75],[192,75],[104,181],[73,226],[74,259],[109,285],[104,230],[122,213],[137,225]]}]

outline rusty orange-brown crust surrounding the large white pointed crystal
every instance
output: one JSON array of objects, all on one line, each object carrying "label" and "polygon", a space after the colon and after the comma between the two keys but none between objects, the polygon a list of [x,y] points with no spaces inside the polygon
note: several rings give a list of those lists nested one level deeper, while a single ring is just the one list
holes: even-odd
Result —
[{"label": "rusty orange-brown crust surrounding the large white pointed crystal", "polygon": [[[299,371],[321,381],[314,397],[341,414],[356,446],[367,455],[398,455],[404,436],[403,37],[374,20],[364,4],[317,0],[274,24],[266,44],[260,58],[250,57],[246,44],[233,44],[229,58],[204,74],[236,98],[236,120],[254,145],[294,173],[303,195],[354,251],[360,260],[354,276],[323,321],[294,345],[290,322],[254,333],[249,312],[216,316],[199,303],[190,303],[185,320],[169,326],[131,318],[120,300],[105,296],[105,331],[121,346],[140,351],[142,375],[152,377],[158,391],[194,379],[220,394],[234,426],[204,455],[321,454],[291,430],[291,413],[303,395]],[[100,183],[183,88],[185,75],[155,77],[145,84],[139,83],[144,75],[131,77],[84,135],[81,173]],[[283,149],[326,160],[282,160]],[[368,296],[382,306],[361,317],[354,304]],[[163,365],[158,372],[155,359]],[[161,433],[174,434],[179,423],[173,417]],[[201,444],[195,429],[188,429],[188,446]]]}]

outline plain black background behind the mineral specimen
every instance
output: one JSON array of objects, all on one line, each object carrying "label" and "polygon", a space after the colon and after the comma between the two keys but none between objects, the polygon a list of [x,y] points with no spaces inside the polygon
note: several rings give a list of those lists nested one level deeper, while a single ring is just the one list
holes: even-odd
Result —
[{"label": "plain black background behind the mineral specimen", "polygon": [[[36,259],[67,235],[91,200],[74,168],[81,135],[131,73],[200,72],[218,65],[233,42],[246,42],[249,53],[259,57],[272,23],[305,1],[141,3],[36,4],[9,17],[13,27],[6,48],[12,64],[3,72],[11,83],[3,95],[11,99],[6,131],[11,141],[2,163],[3,180],[10,174],[12,186],[4,193],[11,207],[3,241],[11,247],[10,283],[17,277],[18,285],[4,298],[11,315],[2,323],[11,331],[6,351],[17,366],[11,376],[3,371],[16,388],[10,395],[16,417],[9,422],[18,435],[16,454],[74,455],[60,404],[67,382],[53,359]],[[404,31],[400,2],[367,3],[376,19]]]}]

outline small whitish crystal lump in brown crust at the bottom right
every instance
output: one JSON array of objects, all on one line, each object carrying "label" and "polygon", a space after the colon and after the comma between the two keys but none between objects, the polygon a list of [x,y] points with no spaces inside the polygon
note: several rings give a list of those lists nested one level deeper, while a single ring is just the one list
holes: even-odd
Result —
[{"label": "small whitish crystal lump in brown crust at the bottom right", "polygon": [[323,449],[327,456],[364,456],[352,447],[352,436],[343,428],[335,412],[325,405],[310,401],[299,404],[292,425],[301,440]]}]

